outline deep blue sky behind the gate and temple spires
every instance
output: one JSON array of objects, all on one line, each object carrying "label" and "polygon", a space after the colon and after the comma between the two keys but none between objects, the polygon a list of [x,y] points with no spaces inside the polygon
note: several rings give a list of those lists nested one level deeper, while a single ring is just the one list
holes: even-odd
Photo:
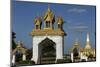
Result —
[{"label": "deep blue sky behind the gate and temple spires", "polygon": [[[49,3],[55,17],[61,16],[64,20],[64,53],[68,53],[76,39],[80,46],[85,47],[86,34],[90,34],[90,43],[95,48],[96,7],[90,5]],[[23,41],[27,48],[32,48],[32,37],[29,35],[34,28],[34,18],[44,16],[48,3],[39,2],[12,2],[12,31],[16,33],[15,41]],[[42,21],[43,22],[43,21]],[[54,23],[56,25],[56,22]],[[42,26],[43,27],[43,26]]]}]

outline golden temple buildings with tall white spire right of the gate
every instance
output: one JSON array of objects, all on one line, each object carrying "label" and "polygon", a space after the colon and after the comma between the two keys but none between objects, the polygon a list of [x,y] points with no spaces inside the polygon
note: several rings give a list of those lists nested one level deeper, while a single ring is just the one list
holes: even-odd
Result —
[{"label": "golden temple buildings with tall white spire right of the gate", "polygon": [[78,59],[78,61],[82,61],[82,60],[88,61],[89,58],[95,58],[96,57],[95,49],[91,47],[89,33],[87,33],[85,47],[82,48],[80,45],[81,44],[79,43],[79,41],[76,40],[74,42],[73,47],[70,50],[72,62],[75,62],[75,60],[77,60],[77,59]]}]

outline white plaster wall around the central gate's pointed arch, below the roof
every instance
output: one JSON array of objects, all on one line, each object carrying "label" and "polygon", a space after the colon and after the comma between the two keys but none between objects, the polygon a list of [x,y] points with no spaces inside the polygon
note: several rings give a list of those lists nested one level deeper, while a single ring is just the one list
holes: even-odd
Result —
[{"label": "white plaster wall around the central gate's pointed arch, below the roof", "polygon": [[56,59],[63,59],[63,36],[33,36],[33,56],[32,60],[38,62],[38,45],[45,38],[49,38],[56,43]]}]

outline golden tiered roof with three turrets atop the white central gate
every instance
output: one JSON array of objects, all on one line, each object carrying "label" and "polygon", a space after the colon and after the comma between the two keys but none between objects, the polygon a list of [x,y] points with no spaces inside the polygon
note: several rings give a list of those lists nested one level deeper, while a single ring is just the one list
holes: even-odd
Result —
[{"label": "golden tiered roof with three turrets atop the white central gate", "polygon": [[[45,15],[44,15],[44,21],[50,21],[50,22],[54,22],[55,21],[55,18],[54,18],[54,14],[53,12],[50,10],[50,8],[48,7],[47,11],[45,12]],[[42,18],[42,19],[43,19]],[[42,22],[42,19],[40,17],[36,18],[34,20],[34,23],[35,25],[39,25],[41,22]],[[57,22],[62,24],[63,23],[63,19],[62,17],[58,17],[57,18]],[[48,28],[45,28],[45,25],[44,24],[44,29],[33,29],[32,32],[30,33],[32,36],[41,36],[41,35],[64,35],[64,31],[60,28],[57,28],[56,30],[53,28],[53,23],[51,25],[51,27],[48,27]]]}]

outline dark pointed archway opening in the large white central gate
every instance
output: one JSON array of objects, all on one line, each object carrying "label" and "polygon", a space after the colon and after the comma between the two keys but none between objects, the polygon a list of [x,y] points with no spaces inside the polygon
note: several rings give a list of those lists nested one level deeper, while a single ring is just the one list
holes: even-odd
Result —
[{"label": "dark pointed archway opening in the large white central gate", "polygon": [[39,43],[40,64],[54,63],[56,60],[56,43],[49,38],[45,38]]}]

